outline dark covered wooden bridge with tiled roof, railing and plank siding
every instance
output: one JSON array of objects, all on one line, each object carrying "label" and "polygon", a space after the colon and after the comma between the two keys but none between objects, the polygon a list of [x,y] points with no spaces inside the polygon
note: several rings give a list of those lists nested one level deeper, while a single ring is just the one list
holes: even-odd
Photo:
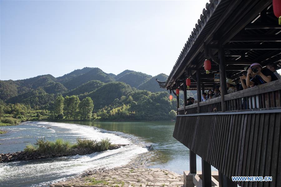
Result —
[{"label": "dark covered wooden bridge with tiled roof, railing and plank siding", "polygon": [[[168,79],[157,80],[171,93],[184,93],[184,103],[177,96],[173,137],[190,150],[190,173],[197,172],[196,155],[202,158],[203,186],[212,186],[211,165],[219,170],[220,187],[281,186],[281,80],[229,94],[226,86],[227,78],[239,83],[252,63],[280,69],[280,41],[272,0],[210,0]],[[221,96],[202,102],[201,90],[214,85],[220,85]],[[189,89],[197,89],[198,102],[187,106]],[[272,181],[233,182],[232,176],[272,176]]]}]

